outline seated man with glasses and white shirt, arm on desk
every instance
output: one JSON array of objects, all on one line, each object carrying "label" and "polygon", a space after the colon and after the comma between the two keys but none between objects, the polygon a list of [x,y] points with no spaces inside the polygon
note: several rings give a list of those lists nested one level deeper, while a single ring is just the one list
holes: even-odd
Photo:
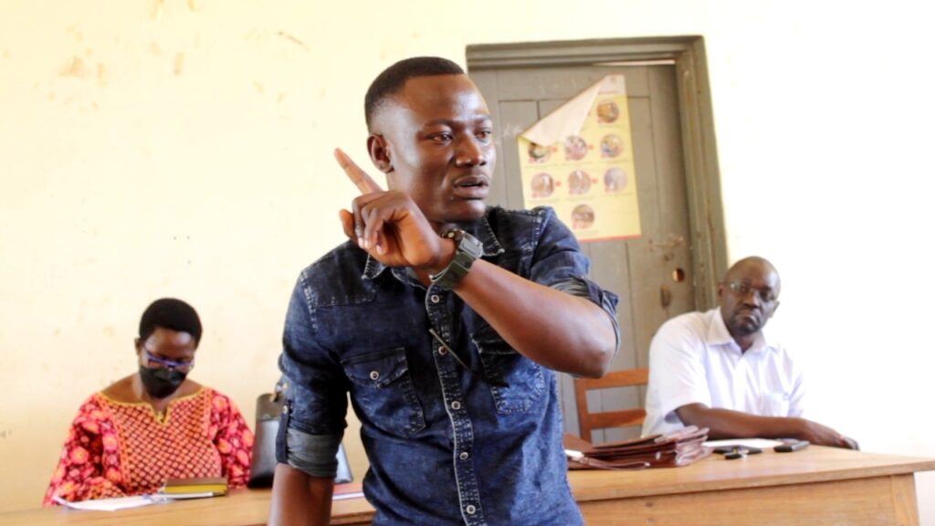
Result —
[{"label": "seated man with glasses and white shirt, arm on desk", "polygon": [[763,326],[779,307],[780,280],[762,257],[741,259],[718,286],[720,307],[667,321],[649,352],[643,434],[695,425],[713,440],[795,438],[820,446],[856,442],[802,418],[802,372]]}]

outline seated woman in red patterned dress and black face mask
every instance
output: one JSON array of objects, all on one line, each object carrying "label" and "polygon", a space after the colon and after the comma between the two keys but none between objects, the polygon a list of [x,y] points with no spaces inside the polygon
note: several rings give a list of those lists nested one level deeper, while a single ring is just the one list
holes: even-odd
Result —
[{"label": "seated woman in red patterned dress and black face mask", "polygon": [[250,478],[253,433],[223,394],[186,375],[201,321],[184,301],[154,301],[139,321],[139,371],[85,401],[46,491],[84,501],[157,491],[168,478]]}]

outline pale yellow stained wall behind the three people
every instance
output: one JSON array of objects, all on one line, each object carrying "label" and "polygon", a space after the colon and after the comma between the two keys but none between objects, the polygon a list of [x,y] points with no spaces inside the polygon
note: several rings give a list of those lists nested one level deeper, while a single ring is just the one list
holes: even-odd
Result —
[{"label": "pale yellow stained wall behind the three people", "polygon": [[367,84],[476,43],[705,36],[728,248],[781,270],[771,323],[807,358],[813,416],[935,457],[929,19],[839,5],[3,0],[0,510],[39,503],[79,403],[134,371],[157,297],[198,309],[193,377],[252,421],[295,276],[341,241],[354,190],[331,150],[364,161]]}]

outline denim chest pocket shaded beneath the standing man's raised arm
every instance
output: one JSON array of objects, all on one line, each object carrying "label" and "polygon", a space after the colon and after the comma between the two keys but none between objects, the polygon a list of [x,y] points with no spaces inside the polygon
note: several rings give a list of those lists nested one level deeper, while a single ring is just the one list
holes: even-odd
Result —
[{"label": "denim chest pocket shaded beneath the standing man's raised arm", "polygon": [[529,412],[546,389],[542,366],[516,352],[489,326],[479,327],[472,340],[481,355],[484,374],[507,385],[490,386],[497,414]]}]

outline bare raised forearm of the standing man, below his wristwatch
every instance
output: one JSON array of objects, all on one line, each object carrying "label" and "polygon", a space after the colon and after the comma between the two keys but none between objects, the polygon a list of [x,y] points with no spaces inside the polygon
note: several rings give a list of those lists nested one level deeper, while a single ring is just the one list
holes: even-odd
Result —
[{"label": "bare raised forearm of the standing man, below his wristwatch", "polygon": [[595,303],[483,260],[454,292],[507,343],[550,369],[601,376],[616,349],[611,317]]}]

